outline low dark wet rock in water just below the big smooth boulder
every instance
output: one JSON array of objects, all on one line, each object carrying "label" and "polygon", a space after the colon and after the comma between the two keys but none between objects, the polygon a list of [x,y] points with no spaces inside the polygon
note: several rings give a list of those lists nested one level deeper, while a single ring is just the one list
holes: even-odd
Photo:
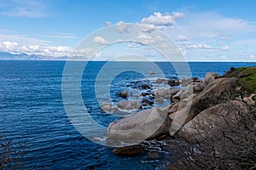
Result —
[{"label": "low dark wet rock in water just below the big smooth boulder", "polygon": [[117,156],[137,156],[143,153],[143,147],[139,144],[113,149],[113,154]]}]

